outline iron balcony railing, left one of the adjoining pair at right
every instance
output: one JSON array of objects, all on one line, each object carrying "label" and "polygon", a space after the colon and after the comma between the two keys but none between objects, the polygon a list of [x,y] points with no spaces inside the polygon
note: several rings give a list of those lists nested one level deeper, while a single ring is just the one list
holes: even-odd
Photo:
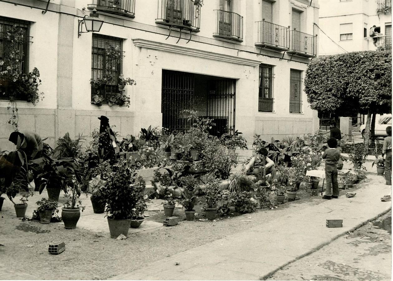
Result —
[{"label": "iron balcony railing, left one of the adjoining pair at right", "polygon": [[289,49],[288,27],[266,22],[264,19],[257,22],[257,26],[258,42],[255,43],[255,46],[278,51]]}]

